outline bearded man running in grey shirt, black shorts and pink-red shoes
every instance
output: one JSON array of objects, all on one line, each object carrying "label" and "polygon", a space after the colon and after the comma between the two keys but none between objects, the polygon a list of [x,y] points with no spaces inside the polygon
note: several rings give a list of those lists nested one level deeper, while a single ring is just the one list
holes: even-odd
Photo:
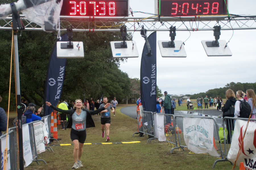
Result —
[{"label": "bearded man running in grey shirt, black shorts and pink-red shoes", "polygon": [[[103,103],[100,105],[100,108],[103,108],[106,104],[108,103],[108,98],[107,97],[103,97]],[[110,109],[112,110],[111,113],[115,112],[115,109],[109,105],[107,108],[105,108],[106,110],[101,111],[101,117],[100,117],[100,121],[101,121],[101,130],[102,130],[102,137],[105,137],[105,130],[104,128],[106,127],[106,133],[107,133],[107,140],[109,141],[109,127],[110,127]]]}]

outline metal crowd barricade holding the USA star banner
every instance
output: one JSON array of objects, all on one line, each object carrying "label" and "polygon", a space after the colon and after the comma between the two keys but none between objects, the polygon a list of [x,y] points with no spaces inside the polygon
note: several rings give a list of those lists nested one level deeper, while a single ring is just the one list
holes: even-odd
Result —
[{"label": "metal crowd barricade holding the USA star banner", "polygon": [[[231,144],[231,142],[232,142],[232,136],[233,136],[233,131],[234,131],[234,127],[235,127],[235,120],[248,121],[248,118],[232,118],[232,117],[224,117],[223,118],[222,127],[223,127],[223,140],[224,140],[224,142],[223,142],[224,143],[224,153],[223,153],[224,158],[222,158],[221,160],[216,160],[214,162],[212,168],[214,168],[214,166],[217,162],[229,161],[228,160],[228,151],[230,149],[229,144]],[[250,121],[256,121],[256,119],[250,119]],[[228,134],[226,134],[226,132]],[[227,135],[227,141],[226,141],[226,135]],[[232,162],[230,162],[230,163],[233,165]]]}]

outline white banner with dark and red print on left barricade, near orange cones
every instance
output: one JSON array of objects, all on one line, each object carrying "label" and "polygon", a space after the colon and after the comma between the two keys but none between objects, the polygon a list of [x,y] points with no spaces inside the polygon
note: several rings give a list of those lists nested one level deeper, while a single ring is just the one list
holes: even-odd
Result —
[{"label": "white banner with dark and red print on left barricade, near orange cones", "polygon": [[34,132],[35,132],[35,140],[36,140],[36,152],[40,154],[45,151],[45,144],[48,141],[48,132],[44,126],[43,122],[33,123]]}]

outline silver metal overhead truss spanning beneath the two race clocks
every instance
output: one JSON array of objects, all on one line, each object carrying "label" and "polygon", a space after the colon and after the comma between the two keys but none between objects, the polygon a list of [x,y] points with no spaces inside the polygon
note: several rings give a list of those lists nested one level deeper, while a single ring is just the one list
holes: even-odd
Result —
[{"label": "silver metal overhead truss spanning beneath the two race clocks", "polygon": [[[24,15],[20,15],[25,30],[42,31],[40,26],[30,22]],[[214,31],[214,26],[221,26],[221,30],[256,29],[255,15],[220,15],[220,16],[182,16],[182,17],[92,17],[92,16],[60,16],[61,31],[73,25],[73,31],[84,32],[113,32],[120,31],[120,25],[125,24],[127,31],[140,31],[142,25],[147,31],[170,31],[170,26],[176,26],[176,31]],[[0,22],[0,30],[11,30],[12,17]],[[0,20],[1,21],[1,20]],[[76,23],[76,24],[74,24]],[[116,24],[118,23],[118,25]]]}]

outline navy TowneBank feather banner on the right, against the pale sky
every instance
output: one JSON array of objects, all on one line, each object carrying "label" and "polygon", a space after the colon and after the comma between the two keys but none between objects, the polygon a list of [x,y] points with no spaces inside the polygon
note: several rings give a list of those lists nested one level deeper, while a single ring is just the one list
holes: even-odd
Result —
[{"label": "navy TowneBank feather banner on the right, against the pale sky", "polygon": [[146,56],[144,44],[141,56],[141,104],[144,111],[156,112],[156,31],[148,36],[152,55]]}]

